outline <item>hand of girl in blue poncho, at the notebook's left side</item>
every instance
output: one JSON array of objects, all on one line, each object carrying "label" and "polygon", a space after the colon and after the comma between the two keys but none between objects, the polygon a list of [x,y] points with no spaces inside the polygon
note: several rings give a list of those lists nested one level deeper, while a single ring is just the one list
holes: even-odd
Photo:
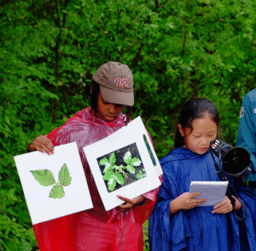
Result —
[{"label": "hand of girl in blue poncho, at the notebook's left side", "polygon": [[191,209],[199,206],[201,203],[204,203],[206,199],[195,199],[196,196],[200,195],[200,191],[193,193],[184,192],[176,199],[172,200],[170,204],[171,214],[175,214],[178,210],[181,209]]}]

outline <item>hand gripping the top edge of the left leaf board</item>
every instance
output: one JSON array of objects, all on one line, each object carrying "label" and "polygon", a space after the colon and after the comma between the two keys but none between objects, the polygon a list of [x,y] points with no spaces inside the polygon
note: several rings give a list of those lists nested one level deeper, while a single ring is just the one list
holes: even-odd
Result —
[{"label": "hand gripping the top edge of the left leaf board", "polygon": [[52,144],[51,140],[47,139],[43,135],[40,135],[27,146],[27,150],[46,152],[47,154],[51,155],[55,153],[55,146]]}]

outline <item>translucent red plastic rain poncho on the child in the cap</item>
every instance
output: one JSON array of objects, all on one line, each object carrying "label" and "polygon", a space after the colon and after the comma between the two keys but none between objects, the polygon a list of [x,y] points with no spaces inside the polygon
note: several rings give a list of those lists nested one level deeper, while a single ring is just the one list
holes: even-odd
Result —
[{"label": "translucent red plastic rain poncho on the child in the cap", "polygon": [[119,208],[106,211],[83,151],[85,145],[102,140],[124,125],[125,115],[105,123],[85,108],[47,135],[54,145],[77,142],[93,208],[33,225],[40,251],[108,250],[109,243],[111,250],[143,250],[142,225],[154,208],[158,189],[143,194],[143,206],[126,212]]}]

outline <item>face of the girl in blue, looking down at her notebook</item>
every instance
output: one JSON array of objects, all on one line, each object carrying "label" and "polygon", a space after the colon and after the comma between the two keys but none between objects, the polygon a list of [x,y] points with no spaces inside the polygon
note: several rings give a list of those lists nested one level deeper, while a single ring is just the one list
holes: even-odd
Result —
[{"label": "face of the girl in blue, looking down at her notebook", "polygon": [[206,116],[195,118],[192,122],[192,128],[183,129],[180,124],[177,125],[180,133],[184,137],[185,147],[198,154],[204,154],[210,147],[210,142],[216,139],[218,126],[212,120],[212,117]]}]

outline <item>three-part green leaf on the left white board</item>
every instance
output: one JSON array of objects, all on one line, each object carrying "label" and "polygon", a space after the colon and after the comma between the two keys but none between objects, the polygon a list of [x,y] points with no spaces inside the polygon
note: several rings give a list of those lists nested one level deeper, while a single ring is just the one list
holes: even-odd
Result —
[{"label": "three-part green leaf on the left white board", "polygon": [[66,163],[62,166],[59,172],[59,182],[55,181],[54,175],[48,169],[39,169],[35,171],[30,171],[34,176],[35,180],[38,181],[39,185],[49,186],[54,185],[49,192],[49,197],[54,199],[60,199],[65,197],[64,186],[71,184],[71,176],[69,174]]}]

